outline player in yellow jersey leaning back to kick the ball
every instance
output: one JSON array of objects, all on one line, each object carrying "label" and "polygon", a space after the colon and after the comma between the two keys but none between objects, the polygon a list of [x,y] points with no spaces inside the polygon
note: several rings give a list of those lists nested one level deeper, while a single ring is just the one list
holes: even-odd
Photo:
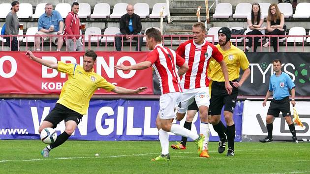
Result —
[{"label": "player in yellow jersey leaning back to kick the ball", "polygon": [[147,88],[138,87],[137,89],[127,89],[114,86],[107,82],[102,76],[93,72],[93,65],[96,62],[97,55],[92,50],[85,52],[83,66],[37,58],[31,51],[27,51],[26,55],[33,61],[68,75],[68,80],[62,87],[59,100],[55,108],[46,116],[40,125],[39,133],[47,127],[56,128],[57,124],[62,120],[65,122],[65,130],[57,137],[54,143],[46,146],[42,150],[41,154],[43,157],[49,157],[51,149],[62,145],[71,136],[81,121],[82,116],[87,113],[90,99],[97,88],[101,87],[107,91],[113,91],[119,94],[137,94]]}]

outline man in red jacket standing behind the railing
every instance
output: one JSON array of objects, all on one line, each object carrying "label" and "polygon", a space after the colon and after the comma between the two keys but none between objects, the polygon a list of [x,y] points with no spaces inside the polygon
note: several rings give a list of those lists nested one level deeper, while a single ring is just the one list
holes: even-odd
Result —
[{"label": "man in red jacket standing behind the railing", "polygon": [[[71,12],[68,13],[67,17],[65,17],[65,28],[63,35],[79,35],[80,34],[80,18],[78,16],[79,12],[79,3],[73,2]],[[64,37],[66,39],[66,44],[68,47],[68,51],[82,51],[83,44],[79,36],[76,37]]]}]

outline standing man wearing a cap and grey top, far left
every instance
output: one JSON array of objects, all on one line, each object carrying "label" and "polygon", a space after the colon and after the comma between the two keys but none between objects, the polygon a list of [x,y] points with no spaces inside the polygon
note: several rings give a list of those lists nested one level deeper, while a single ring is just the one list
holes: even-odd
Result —
[{"label": "standing man wearing a cap and grey top, far left", "polygon": [[[5,35],[17,35],[19,29],[18,17],[16,12],[19,10],[19,2],[13,1],[12,8],[5,18]],[[12,42],[11,42],[12,38]],[[11,48],[11,51],[18,51],[18,41],[16,37],[5,37],[6,45]]]}]

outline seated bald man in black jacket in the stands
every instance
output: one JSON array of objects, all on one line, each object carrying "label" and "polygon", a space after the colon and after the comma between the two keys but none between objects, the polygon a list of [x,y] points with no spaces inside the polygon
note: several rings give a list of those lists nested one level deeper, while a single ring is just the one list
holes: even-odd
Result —
[{"label": "seated bald man in black jacket in the stands", "polygon": [[[116,35],[128,34],[127,36],[123,38],[124,40],[127,40],[127,39],[138,40],[136,51],[141,51],[143,37],[139,37],[138,39],[138,37],[129,36],[129,35],[142,35],[141,34],[142,25],[141,25],[140,16],[133,13],[134,8],[132,4],[127,5],[126,11],[127,13],[124,14],[120,20],[121,32],[117,33]],[[122,50],[122,37],[116,37],[115,47],[116,47],[116,51]]]}]

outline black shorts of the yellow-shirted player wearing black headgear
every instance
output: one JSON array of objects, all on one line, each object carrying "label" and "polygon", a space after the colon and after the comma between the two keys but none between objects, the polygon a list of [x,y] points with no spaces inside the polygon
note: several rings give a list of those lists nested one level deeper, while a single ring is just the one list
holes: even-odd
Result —
[{"label": "black shorts of the yellow-shirted player wearing black headgear", "polygon": [[[236,80],[233,80],[234,82]],[[232,93],[227,94],[225,82],[212,83],[209,112],[212,116],[220,115],[224,106],[224,111],[234,113],[238,96],[238,87],[233,87]]]}]

